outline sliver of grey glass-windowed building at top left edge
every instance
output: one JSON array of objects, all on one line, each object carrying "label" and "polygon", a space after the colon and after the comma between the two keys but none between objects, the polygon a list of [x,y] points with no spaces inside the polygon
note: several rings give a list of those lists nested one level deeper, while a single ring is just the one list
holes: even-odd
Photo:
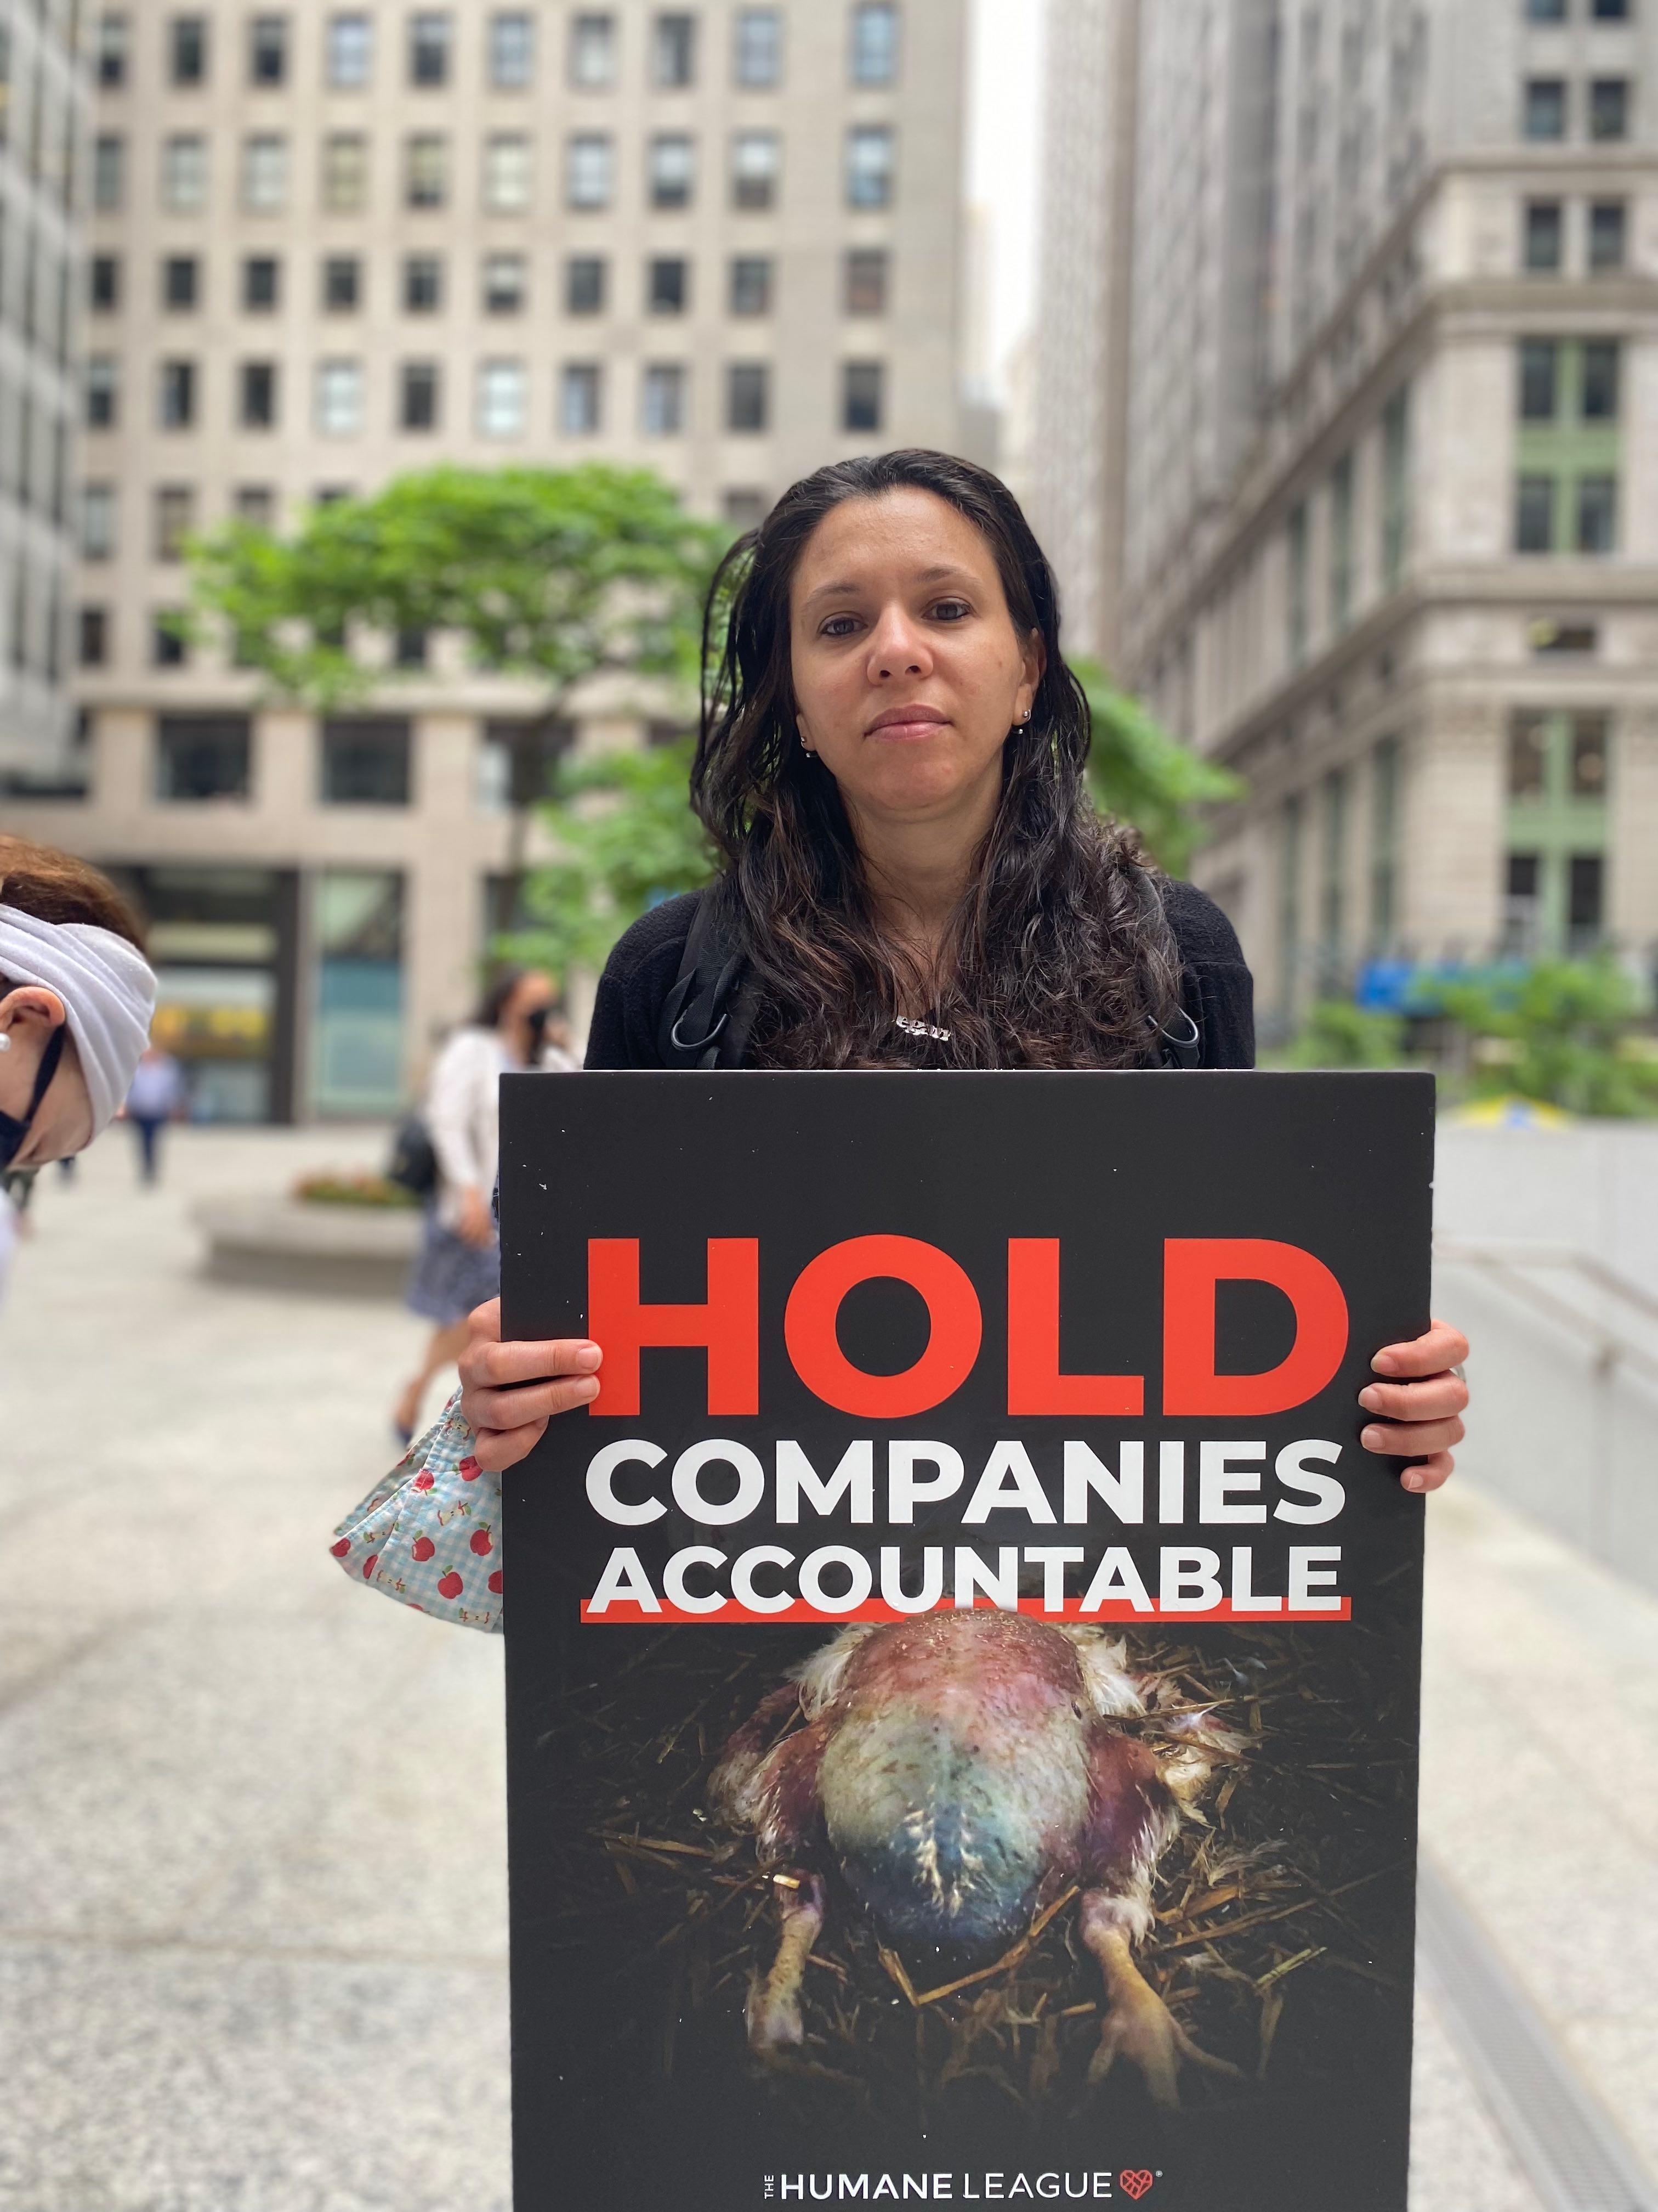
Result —
[{"label": "sliver of grey glass-windowed building at top left edge", "polygon": [[86,9],[0,20],[0,814],[73,779],[73,352],[91,142]]}]

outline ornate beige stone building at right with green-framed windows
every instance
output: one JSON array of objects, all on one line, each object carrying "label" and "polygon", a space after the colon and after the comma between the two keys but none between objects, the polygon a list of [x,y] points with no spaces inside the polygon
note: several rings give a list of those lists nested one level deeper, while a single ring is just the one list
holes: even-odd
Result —
[{"label": "ornate beige stone building at right with green-framed windows", "polygon": [[1198,876],[1265,1031],[1377,962],[1649,962],[1658,15],[1074,4],[1136,27],[1119,670],[1249,779]]}]

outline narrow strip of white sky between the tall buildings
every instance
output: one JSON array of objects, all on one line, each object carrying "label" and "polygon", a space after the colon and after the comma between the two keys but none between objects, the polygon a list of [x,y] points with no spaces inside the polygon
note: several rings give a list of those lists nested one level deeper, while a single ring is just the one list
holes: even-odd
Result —
[{"label": "narrow strip of white sky between the tall buildings", "polygon": [[968,206],[984,206],[988,215],[988,332],[997,385],[1035,303],[1041,31],[1048,4],[973,0],[970,7],[966,197]]}]

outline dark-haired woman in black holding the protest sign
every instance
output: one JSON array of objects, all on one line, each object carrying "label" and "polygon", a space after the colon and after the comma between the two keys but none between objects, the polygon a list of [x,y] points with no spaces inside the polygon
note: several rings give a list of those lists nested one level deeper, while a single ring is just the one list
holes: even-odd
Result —
[{"label": "dark-haired woman in black holding the protest sign", "polygon": [[[1054,580],[995,476],[928,451],[818,469],[732,549],[707,619],[692,801],[721,876],[621,938],[590,1068],[1253,1064],[1231,925],[1088,799]],[[1450,1473],[1466,1349],[1435,1325],[1373,1360],[1362,1442],[1413,1462],[1406,1489]],[[513,1467],[597,1394],[601,1356],[502,1343],[500,1305],[480,1307],[422,1469]],[[343,1524],[347,1568],[371,1524]],[[458,1617],[444,1579],[420,1601]],[[500,1621],[500,1571],[491,1590],[471,1624]]]}]

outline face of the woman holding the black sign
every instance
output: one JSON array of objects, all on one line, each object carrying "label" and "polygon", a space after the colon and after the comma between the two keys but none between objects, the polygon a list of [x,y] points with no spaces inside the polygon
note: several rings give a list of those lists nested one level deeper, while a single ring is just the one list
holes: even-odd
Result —
[{"label": "face of the woman holding the black sign", "polygon": [[789,644],[800,739],[853,830],[953,816],[988,827],[1001,745],[1030,712],[1043,650],[1039,633],[1015,630],[966,515],[915,487],[842,500],[796,564]]}]

